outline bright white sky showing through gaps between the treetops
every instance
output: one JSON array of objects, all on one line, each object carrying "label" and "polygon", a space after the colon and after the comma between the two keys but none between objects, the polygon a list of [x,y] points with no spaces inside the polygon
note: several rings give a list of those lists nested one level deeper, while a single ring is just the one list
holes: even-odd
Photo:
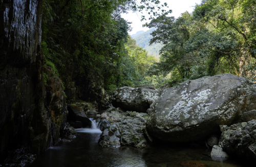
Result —
[{"label": "bright white sky showing through gaps between the treetops", "polygon": [[[180,16],[181,13],[188,11],[189,13],[191,13],[194,10],[194,6],[196,4],[200,4],[201,0],[160,0],[161,4],[163,3],[167,3],[167,6],[169,8],[165,8],[166,11],[167,10],[173,10],[173,13],[169,14],[168,16],[174,16],[175,18],[178,18]],[[133,13],[133,12],[129,12],[128,14],[122,14],[122,18],[124,18],[125,20],[128,20],[130,22],[133,22],[131,24],[133,31],[129,32],[130,35],[136,34],[136,32],[138,31],[147,31],[149,30],[146,27],[142,27],[143,23],[145,22],[150,22],[150,20],[143,21],[141,22],[140,19],[140,15],[145,15],[143,12],[143,14],[141,13]]]}]

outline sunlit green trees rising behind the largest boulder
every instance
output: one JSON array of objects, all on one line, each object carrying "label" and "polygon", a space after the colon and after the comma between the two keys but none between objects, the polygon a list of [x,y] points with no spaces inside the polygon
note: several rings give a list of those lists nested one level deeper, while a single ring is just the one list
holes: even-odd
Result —
[{"label": "sunlit green trees rising behind the largest boulder", "polygon": [[193,13],[159,17],[150,43],[163,43],[150,75],[170,74],[170,84],[223,73],[255,81],[255,6],[252,0],[203,0]]}]

